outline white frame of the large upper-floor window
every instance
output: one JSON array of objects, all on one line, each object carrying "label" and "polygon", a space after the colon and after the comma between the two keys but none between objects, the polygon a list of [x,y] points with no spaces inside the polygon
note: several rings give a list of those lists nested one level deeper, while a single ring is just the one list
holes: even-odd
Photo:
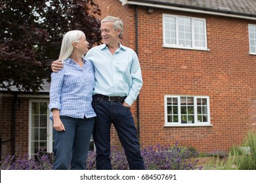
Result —
[{"label": "white frame of the large upper-floor window", "polygon": [[[176,43],[175,44],[167,44],[165,39],[165,17],[172,17],[175,18],[175,33],[176,33]],[[190,18],[191,20],[191,33],[192,33],[192,46],[179,46],[179,27],[177,26],[177,19],[178,18]],[[194,31],[194,21],[199,20],[203,21],[203,32],[204,32],[204,40],[205,40],[205,46],[195,46],[195,31]],[[168,48],[182,48],[182,49],[190,49],[190,50],[207,50],[207,31],[206,31],[206,20],[204,18],[194,18],[189,16],[178,16],[173,14],[163,14],[163,47]]]}]

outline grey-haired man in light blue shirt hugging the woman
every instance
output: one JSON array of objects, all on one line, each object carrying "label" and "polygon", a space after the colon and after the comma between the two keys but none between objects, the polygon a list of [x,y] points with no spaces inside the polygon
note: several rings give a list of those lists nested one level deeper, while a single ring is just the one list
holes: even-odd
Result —
[{"label": "grey-haired man in light blue shirt hugging the woman", "polygon": [[[140,144],[130,107],[142,88],[142,75],[137,54],[120,44],[123,22],[106,16],[100,31],[104,44],[95,46],[85,58],[95,66],[93,108],[96,113],[93,139],[96,146],[96,169],[112,169],[110,161],[110,127],[114,124],[129,169],[145,169]],[[54,72],[62,68],[54,61]]]}]

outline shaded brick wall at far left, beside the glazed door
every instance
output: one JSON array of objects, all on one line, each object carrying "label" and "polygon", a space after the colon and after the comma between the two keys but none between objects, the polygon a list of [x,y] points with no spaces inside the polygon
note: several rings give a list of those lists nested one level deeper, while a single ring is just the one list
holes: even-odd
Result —
[{"label": "shaded brick wall at far left, beside the glazed door", "polygon": [[[13,108],[14,97],[3,97],[1,102],[1,139],[6,141],[1,146],[1,158],[12,154],[12,129],[13,129]],[[18,97],[16,108],[16,129],[15,129],[15,154],[28,154],[28,130],[29,130],[29,99]]]}]

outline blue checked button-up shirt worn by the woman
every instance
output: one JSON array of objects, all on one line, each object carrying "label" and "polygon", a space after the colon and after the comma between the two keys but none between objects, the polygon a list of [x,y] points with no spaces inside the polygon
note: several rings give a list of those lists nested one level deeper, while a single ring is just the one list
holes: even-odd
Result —
[{"label": "blue checked button-up shirt worn by the woman", "polygon": [[[72,59],[63,61],[64,67],[51,74],[49,110],[57,108],[60,116],[72,118],[92,118],[95,111],[91,105],[95,71],[89,60],[83,59],[83,69]],[[51,113],[53,120],[53,114]]]}]

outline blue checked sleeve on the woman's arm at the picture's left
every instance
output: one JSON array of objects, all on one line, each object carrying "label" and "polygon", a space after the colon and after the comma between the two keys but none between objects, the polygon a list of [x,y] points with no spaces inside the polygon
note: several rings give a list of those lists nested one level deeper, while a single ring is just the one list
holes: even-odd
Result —
[{"label": "blue checked sleeve on the woman's arm at the picture's left", "polygon": [[49,110],[53,108],[61,109],[60,95],[63,86],[64,73],[58,71],[58,73],[51,74],[51,89],[50,89],[50,104]]}]

